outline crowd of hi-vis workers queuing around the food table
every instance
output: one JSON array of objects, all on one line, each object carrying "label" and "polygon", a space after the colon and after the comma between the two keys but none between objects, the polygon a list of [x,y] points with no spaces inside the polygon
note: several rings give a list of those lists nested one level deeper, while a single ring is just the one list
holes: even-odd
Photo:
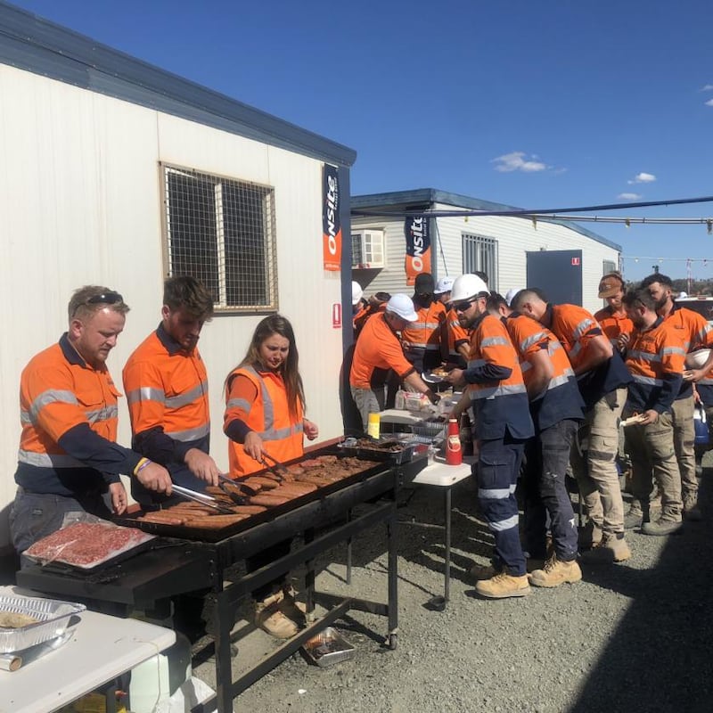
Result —
[{"label": "crowd of hi-vis workers queuing around the food table", "polygon": [[[479,594],[522,596],[530,585],[578,582],[580,551],[587,561],[625,561],[626,529],[667,536],[684,518],[700,520],[693,409],[698,399],[713,411],[713,351],[696,368],[686,355],[713,346],[713,332],[676,305],[671,280],[655,273],[625,291],[619,273],[603,275],[598,297],[608,305],[592,315],[550,304],[537,288],[504,299],[483,278],[444,278],[434,288],[430,275],[419,275],[413,298],[390,296],[366,318],[355,283],[361,324],[349,371],[364,429],[370,411],[389,406],[389,373],[434,403],[425,370],[446,365],[447,382],[464,388],[450,416],[471,414],[473,474],[495,539],[492,564],[471,570]],[[632,466],[626,513],[621,422]],[[586,512],[581,532],[568,468]]]}]

